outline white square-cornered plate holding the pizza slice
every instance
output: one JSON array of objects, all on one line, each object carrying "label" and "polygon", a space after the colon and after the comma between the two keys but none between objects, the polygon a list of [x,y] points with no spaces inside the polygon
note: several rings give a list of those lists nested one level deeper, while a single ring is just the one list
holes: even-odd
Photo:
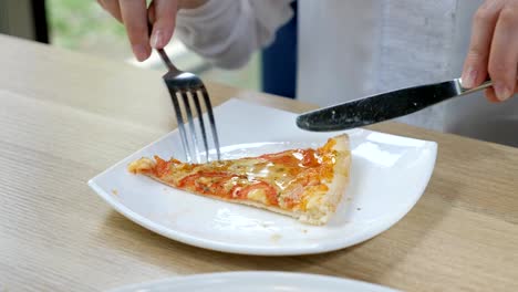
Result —
[{"label": "white square-cornered plate holding the pizza slice", "polygon": [[[215,108],[224,158],[315,146],[338,133],[297,128],[292,113],[231,100]],[[138,150],[89,185],[118,212],[170,239],[244,254],[327,252],[367,240],[397,222],[422,196],[437,146],[365,129],[351,137],[351,185],[327,226],[314,227],[252,207],[190,195],[134,176],[142,156],[183,157],[176,131]]]}]

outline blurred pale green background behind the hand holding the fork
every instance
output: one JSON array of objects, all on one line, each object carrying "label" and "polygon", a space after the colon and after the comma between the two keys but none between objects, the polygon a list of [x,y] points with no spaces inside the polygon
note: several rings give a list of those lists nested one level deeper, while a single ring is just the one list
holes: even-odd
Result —
[{"label": "blurred pale green background behind the hand holding the fork", "polygon": [[[51,44],[136,64],[124,27],[95,0],[46,0],[46,14]],[[259,53],[244,69],[225,71],[210,66],[195,53],[186,51],[178,40],[174,40],[168,49],[179,52],[173,60],[178,66],[195,71],[203,79],[255,91],[260,88]],[[165,70],[158,60],[137,65]]]}]

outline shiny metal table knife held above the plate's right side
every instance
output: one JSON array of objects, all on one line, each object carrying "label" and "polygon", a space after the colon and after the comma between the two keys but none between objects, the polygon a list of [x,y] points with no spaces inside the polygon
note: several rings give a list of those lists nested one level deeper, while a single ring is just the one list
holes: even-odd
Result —
[{"label": "shiny metal table knife held above the plate's right side", "polygon": [[490,80],[474,88],[464,88],[460,84],[462,80],[455,79],[386,92],[324,107],[298,116],[297,126],[313,132],[366,126],[408,115],[443,101],[493,85]]}]

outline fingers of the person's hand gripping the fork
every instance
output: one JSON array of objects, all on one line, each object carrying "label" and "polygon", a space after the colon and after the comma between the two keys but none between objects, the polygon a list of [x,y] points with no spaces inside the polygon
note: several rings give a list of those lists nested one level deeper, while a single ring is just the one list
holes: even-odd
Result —
[{"label": "fingers of the person's hand gripping the fork", "polygon": [[[101,7],[126,27],[133,53],[138,61],[146,60],[151,49],[164,48],[173,36],[178,9],[193,9],[207,0],[97,0]],[[153,21],[149,38],[147,22]]]}]

